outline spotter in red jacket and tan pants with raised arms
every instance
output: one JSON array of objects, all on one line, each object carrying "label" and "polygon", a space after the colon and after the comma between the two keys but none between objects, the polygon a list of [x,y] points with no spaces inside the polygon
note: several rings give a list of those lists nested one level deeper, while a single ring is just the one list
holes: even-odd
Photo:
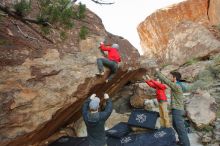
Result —
[{"label": "spotter in red jacket and tan pants with raised arms", "polygon": [[162,127],[171,127],[170,120],[169,120],[169,114],[167,110],[167,96],[166,96],[166,86],[162,84],[159,80],[151,80],[149,76],[146,77],[143,76],[143,79],[145,82],[152,88],[156,90],[156,96],[159,103],[159,113],[160,113],[160,125]]}]

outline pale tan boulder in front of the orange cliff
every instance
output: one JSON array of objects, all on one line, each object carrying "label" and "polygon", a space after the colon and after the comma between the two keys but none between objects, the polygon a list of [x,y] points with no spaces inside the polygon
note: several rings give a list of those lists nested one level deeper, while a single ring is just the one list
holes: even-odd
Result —
[{"label": "pale tan boulder in front of the orange cliff", "polygon": [[219,51],[220,41],[208,29],[198,23],[184,21],[170,33],[163,61],[181,65]]}]

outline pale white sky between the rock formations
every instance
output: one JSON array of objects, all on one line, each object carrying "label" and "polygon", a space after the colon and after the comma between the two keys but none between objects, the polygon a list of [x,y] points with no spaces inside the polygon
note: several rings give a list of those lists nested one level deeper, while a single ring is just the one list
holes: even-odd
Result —
[{"label": "pale white sky between the rock formations", "polygon": [[[105,1],[105,0],[103,0]],[[111,0],[106,0],[109,2]],[[106,30],[127,39],[142,54],[137,26],[157,9],[183,0],[112,0],[113,5],[99,5],[90,0],[79,0],[101,19]]]}]

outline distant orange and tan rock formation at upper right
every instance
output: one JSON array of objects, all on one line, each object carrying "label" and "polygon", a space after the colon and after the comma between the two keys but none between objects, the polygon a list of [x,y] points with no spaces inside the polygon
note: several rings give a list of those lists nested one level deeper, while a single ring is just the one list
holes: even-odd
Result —
[{"label": "distant orange and tan rock formation at upper right", "polygon": [[162,64],[180,65],[191,58],[219,51],[219,42],[207,30],[218,23],[218,3],[218,0],[210,3],[187,0],[148,16],[138,26],[144,55],[157,58]]}]

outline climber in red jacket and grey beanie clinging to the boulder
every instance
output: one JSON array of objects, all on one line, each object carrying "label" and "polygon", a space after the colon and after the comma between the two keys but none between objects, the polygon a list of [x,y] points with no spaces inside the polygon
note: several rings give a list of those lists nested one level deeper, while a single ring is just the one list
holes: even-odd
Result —
[{"label": "climber in red jacket and grey beanie clinging to the boulder", "polygon": [[97,75],[104,75],[104,66],[110,69],[110,76],[106,80],[106,82],[110,81],[118,70],[118,63],[121,62],[121,57],[118,52],[119,45],[113,44],[110,46],[105,46],[103,42],[100,43],[99,47],[102,51],[108,51],[108,58],[98,58],[98,70],[99,73]]}]

